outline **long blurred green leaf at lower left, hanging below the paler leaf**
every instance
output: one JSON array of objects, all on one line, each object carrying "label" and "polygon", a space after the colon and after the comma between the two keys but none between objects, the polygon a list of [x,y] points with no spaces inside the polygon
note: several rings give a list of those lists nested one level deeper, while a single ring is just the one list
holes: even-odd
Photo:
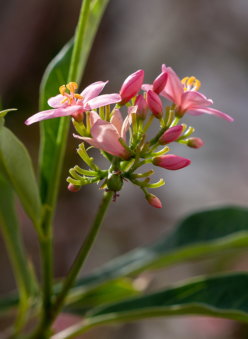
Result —
[{"label": "long blurred green leaf at lower left, hanging below the paler leaf", "polygon": [[[24,313],[29,306],[34,292],[35,281],[30,271],[26,253],[21,240],[20,227],[15,211],[15,194],[12,185],[0,175],[0,226],[12,263],[14,276],[19,291],[19,314],[16,322],[18,328],[24,322]],[[29,302],[28,302],[29,300]],[[0,301],[0,311],[14,306],[18,298],[10,296]]]}]

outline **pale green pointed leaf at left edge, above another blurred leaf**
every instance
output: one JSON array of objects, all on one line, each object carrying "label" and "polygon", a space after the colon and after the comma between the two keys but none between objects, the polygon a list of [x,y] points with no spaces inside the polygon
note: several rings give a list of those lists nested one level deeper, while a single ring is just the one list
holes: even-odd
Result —
[{"label": "pale green pointed leaf at left edge, above another blurred leaf", "polygon": [[[1,118],[1,122],[3,122]],[[41,201],[30,155],[23,143],[6,127],[0,135],[1,172],[14,186],[18,197],[37,227],[41,218]]]}]

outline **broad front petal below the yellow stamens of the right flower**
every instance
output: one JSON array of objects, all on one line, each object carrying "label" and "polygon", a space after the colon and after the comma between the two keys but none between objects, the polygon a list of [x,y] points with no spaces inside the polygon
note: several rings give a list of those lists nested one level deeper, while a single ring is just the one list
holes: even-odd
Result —
[{"label": "broad front petal below the yellow stamens of the right flower", "polygon": [[213,104],[211,99],[207,99],[205,95],[199,92],[185,92],[181,98],[181,109],[185,111],[191,107],[207,107]]}]

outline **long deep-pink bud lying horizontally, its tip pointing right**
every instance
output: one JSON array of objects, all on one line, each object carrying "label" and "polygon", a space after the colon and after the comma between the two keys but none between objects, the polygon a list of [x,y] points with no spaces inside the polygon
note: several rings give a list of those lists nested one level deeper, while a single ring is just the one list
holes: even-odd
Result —
[{"label": "long deep-pink bud lying horizontally, its tip pointing right", "polygon": [[155,166],[176,171],[177,169],[190,165],[191,161],[189,159],[179,157],[178,155],[168,154],[152,158],[152,163]]}]

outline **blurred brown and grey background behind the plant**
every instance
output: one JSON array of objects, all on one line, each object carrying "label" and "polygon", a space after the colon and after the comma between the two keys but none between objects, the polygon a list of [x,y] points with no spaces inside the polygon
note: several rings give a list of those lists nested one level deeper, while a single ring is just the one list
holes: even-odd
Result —
[{"label": "blurred brown and grey background behind the plant", "polygon": [[[3,109],[18,109],[7,114],[6,126],[24,142],[35,168],[39,124],[26,126],[24,121],[38,112],[42,75],[74,35],[80,6],[81,0],[1,1],[0,93]],[[160,74],[162,63],[166,63],[180,79],[191,75],[199,79],[199,92],[213,100],[211,107],[232,116],[234,122],[207,114],[182,119],[195,127],[193,136],[202,138],[204,147],[172,145],[171,153],[191,159],[191,165],[175,172],[156,168],[152,181],[163,178],[165,185],[150,193],[160,199],[160,210],[148,204],[138,187],[125,183],[116,203],[110,205],[82,275],[169,233],[178,220],[192,212],[227,204],[248,205],[247,19],[246,0],[110,0],[80,88],[109,80],[103,94],[118,93],[131,73],[143,69],[144,82],[152,83]],[[166,99],[163,103],[167,104]],[[156,123],[154,131],[158,128]],[[83,166],[76,154],[78,141],[72,133],[73,128],[55,216],[57,278],[68,272],[102,196],[96,185],[83,186],[77,193],[67,189],[69,168]],[[99,167],[105,168],[107,164],[99,151],[91,152]],[[25,245],[40,277],[36,234],[22,208],[18,208]],[[244,253],[228,268],[246,270],[248,255]],[[215,270],[216,262],[212,261],[169,268],[151,276],[149,290]],[[15,281],[2,240],[0,272],[0,293],[13,290]],[[234,339],[244,338],[245,332],[245,326],[234,321],[178,317],[104,327],[83,338],[100,335],[101,339]]]}]

